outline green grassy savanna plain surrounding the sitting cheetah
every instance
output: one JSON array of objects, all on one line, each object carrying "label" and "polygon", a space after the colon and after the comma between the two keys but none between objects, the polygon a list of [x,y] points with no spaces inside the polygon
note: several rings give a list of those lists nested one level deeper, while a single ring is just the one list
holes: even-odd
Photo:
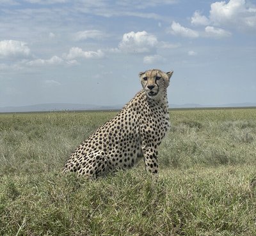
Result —
[{"label": "green grassy savanna plain surrounding the sitting cheetah", "polygon": [[0,235],[256,235],[256,109],[170,111],[157,182],[63,175],[115,114],[0,115]]}]

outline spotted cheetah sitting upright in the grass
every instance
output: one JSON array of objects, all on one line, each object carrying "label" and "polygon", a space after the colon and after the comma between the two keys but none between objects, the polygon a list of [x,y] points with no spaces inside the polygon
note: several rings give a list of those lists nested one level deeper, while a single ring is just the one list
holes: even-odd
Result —
[{"label": "spotted cheetah sitting upright in the grass", "polygon": [[157,147],[170,128],[167,87],[173,71],[153,69],[139,74],[143,89],[110,121],[71,154],[64,173],[90,179],[131,168],[141,157],[150,175],[158,175]]}]

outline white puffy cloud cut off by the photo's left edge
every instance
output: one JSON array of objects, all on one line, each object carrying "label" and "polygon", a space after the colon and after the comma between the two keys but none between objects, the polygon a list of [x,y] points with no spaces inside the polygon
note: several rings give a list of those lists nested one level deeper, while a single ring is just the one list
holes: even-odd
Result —
[{"label": "white puffy cloud cut off by the photo's left edge", "polygon": [[28,57],[30,49],[23,41],[0,41],[0,56],[3,57]]}]

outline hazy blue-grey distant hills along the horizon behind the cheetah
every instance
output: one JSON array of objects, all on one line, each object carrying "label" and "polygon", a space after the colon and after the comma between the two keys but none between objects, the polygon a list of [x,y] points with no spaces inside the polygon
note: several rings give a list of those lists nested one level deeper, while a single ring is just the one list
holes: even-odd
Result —
[{"label": "hazy blue-grey distant hills along the horizon behind the cheetah", "polygon": [[[76,103],[45,103],[20,107],[0,107],[0,113],[5,112],[51,112],[51,111],[75,111],[75,110],[120,110],[124,105],[98,106]],[[203,107],[256,107],[256,103],[229,103],[223,105],[200,105],[194,103],[169,104],[170,108],[203,108]]]}]

